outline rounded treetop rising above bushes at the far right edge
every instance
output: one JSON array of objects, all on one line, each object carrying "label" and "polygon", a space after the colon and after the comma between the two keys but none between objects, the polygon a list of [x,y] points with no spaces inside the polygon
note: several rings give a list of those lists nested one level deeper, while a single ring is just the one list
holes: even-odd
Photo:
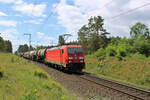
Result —
[{"label": "rounded treetop rising above bushes at the far right edge", "polygon": [[150,32],[145,24],[137,22],[130,28],[130,35],[132,38],[137,38],[138,36],[144,36],[145,39],[150,39]]}]

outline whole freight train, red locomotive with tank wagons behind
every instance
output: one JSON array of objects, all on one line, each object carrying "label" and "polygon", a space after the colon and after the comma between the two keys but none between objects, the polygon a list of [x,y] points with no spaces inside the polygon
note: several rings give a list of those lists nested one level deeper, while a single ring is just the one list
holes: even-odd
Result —
[{"label": "whole freight train, red locomotive with tank wagons behind", "polygon": [[20,53],[19,55],[26,59],[75,72],[81,72],[85,68],[84,52],[80,45],[63,45]]}]

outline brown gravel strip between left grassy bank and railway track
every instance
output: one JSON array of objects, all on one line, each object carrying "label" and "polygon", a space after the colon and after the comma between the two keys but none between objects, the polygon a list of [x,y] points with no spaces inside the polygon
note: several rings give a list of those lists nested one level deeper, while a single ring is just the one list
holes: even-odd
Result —
[{"label": "brown gravel strip between left grassy bank and railway track", "polygon": [[64,73],[38,62],[32,63],[44,69],[55,81],[62,84],[71,94],[75,94],[81,100],[132,100],[128,96],[109,88],[83,80],[78,75]]}]

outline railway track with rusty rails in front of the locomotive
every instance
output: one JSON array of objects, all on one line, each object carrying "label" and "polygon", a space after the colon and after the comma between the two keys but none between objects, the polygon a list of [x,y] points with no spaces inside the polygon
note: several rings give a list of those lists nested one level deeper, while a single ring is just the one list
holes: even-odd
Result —
[{"label": "railway track with rusty rails in front of the locomotive", "polygon": [[133,100],[150,100],[150,90],[141,89],[135,86],[119,83],[113,80],[98,78],[94,75],[81,75],[79,78],[93,82],[94,84],[113,89],[119,93],[128,95]]}]

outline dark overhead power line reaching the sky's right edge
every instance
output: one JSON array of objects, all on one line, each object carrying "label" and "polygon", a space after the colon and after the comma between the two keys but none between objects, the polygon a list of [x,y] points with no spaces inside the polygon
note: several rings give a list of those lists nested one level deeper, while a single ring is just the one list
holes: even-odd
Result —
[{"label": "dark overhead power line reaching the sky's right edge", "polygon": [[118,15],[115,15],[115,16],[109,18],[108,20],[113,20],[113,19],[115,19],[115,18],[117,18],[117,17],[119,17],[119,16],[126,15],[126,14],[128,14],[128,13],[130,13],[130,12],[133,12],[133,11],[135,11],[135,10],[137,10],[137,9],[140,9],[140,8],[143,8],[143,7],[149,6],[149,5],[150,5],[150,3],[146,3],[146,4],[142,5],[142,6],[139,6],[139,7],[130,9],[130,10],[126,11],[126,12],[122,12],[122,13],[120,13],[120,14],[118,14]]}]

